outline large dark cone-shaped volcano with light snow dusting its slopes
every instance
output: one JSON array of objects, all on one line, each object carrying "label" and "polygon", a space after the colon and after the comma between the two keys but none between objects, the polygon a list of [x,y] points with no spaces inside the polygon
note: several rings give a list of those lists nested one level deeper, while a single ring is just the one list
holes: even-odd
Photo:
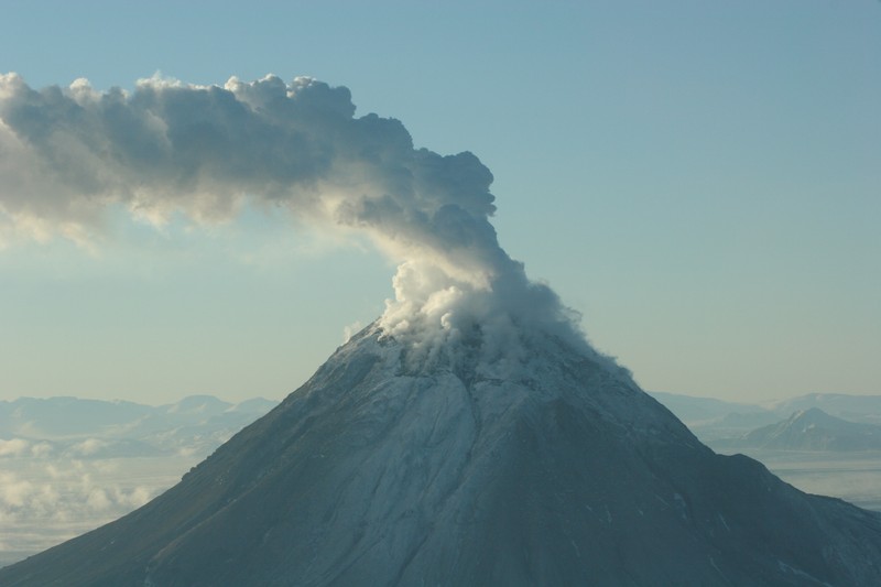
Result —
[{"label": "large dark cone-shaped volcano with light snow dusting its slopes", "polygon": [[431,357],[371,326],[133,513],[2,586],[881,585],[881,514],[701,445],[548,335]]}]

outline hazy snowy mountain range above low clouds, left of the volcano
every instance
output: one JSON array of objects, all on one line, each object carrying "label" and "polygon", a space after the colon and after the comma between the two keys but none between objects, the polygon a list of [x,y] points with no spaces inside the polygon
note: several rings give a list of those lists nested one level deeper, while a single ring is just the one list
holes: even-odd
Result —
[{"label": "hazy snowy mountain range above low clouds, left of the volcano", "polygon": [[276,404],[211,395],[159,406],[69,396],[0,401],[0,458],[207,455]]}]

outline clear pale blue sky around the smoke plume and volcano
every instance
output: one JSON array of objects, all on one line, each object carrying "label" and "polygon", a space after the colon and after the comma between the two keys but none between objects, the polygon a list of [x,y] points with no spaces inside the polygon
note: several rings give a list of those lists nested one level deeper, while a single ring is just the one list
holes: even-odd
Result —
[{"label": "clear pale blue sky around the smoke plume and volcano", "polygon": [[[501,246],[644,389],[881,393],[881,2],[474,4],[6,0],[0,73],[345,86],[491,170]],[[393,296],[368,239],[107,214],[0,235],[0,400],[281,399]]]}]

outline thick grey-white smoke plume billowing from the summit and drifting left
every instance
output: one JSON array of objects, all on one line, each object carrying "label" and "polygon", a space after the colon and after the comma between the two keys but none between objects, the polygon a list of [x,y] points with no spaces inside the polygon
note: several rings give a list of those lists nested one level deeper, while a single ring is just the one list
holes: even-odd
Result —
[{"label": "thick grey-white smoke plume billowing from the summit and drifting left", "polygon": [[280,206],[367,233],[399,263],[380,324],[423,358],[476,325],[497,362],[536,328],[587,348],[573,313],[499,246],[491,182],[471,153],[414,149],[401,122],[356,118],[347,88],[312,78],[154,77],[99,93],[0,75],[0,240],[88,240],[110,206],[154,224]]}]

